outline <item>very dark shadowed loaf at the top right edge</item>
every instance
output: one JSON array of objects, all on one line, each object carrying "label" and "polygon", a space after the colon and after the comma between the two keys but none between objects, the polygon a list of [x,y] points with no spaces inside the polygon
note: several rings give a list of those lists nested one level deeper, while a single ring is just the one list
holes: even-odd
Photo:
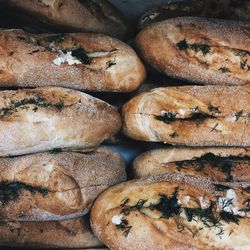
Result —
[{"label": "very dark shadowed loaf at the top right edge", "polygon": [[181,16],[213,17],[250,21],[250,2],[248,0],[181,0],[169,1],[148,10],[139,19],[138,28]]}]

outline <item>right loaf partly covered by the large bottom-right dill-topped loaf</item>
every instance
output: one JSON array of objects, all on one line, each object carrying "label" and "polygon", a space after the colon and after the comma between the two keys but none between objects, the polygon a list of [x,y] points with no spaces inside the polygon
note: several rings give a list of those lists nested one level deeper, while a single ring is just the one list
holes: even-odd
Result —
[{"label": "right loaf partly covered by the large bottom-right dill-topped loaf", "polygon": [[204,177],[212,181],[250,182],[249,148],[162,148],[133,162],[133,177],[165,173]]}]

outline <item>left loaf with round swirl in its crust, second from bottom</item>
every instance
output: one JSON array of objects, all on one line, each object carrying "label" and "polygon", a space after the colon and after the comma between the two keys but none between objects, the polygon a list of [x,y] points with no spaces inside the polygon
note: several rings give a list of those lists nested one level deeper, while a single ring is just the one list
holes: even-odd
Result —
[{"label": "left loaf with round swirl in its crust, second from bottom", "polygon": [[86,214],[106,188],[126,180],[108,148],[0,158],[0,221],[62,220]]}]

